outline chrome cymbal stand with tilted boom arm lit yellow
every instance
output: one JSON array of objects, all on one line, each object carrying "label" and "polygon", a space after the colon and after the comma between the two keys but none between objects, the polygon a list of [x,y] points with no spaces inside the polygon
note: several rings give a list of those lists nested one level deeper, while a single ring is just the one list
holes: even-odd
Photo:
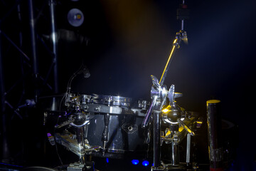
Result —
[{"label": "chrome cymbal stand with tilted boom arm lit yellow", "polygon": [[[184,1],[183,1],[184,4]],[[151,118],[151,113],[153,112],[153,145],[154,145],[154,166],[151,167],[151,171],[157,170],[165,170],[163,166],[161,166],[161,122],[160,115],[162,113],[161,108],[166,104],[166,97],[168,96],[170,103],[174,103],[174,92],[172,92],[171,88],[169,91],[166,90],[166,86],[164,86],[164,80],[166,78],[166,74],[169,71],[171,61],[173,60],[174,53],[178,48],[180,48],[181,41],[187,42],[186,31],[183,30],[183,19],[181,21],[181,30],[176,33],[176,38],[174,39],[173,47],[171,49],[171,53],[169,55],[168,61],[164,68],[164,72],[162,73],[160,81],[151,75],[151,79],[153,82],[153,86],[151,87],[151,105],[149,106],[149,110],[147,110],[144,120],[142,121],[142,128],[146,128],[149,123],[149,118]]]}]

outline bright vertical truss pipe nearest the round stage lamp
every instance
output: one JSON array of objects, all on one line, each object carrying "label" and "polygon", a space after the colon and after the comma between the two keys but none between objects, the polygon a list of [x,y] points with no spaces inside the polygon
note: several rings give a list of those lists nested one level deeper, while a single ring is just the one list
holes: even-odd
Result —
[{"label": "bright vertical truss pipe nearest the round stage lamp", "polygon": [[55,23],[55,0],[49,0],[50,5],[50,28],[51,28],[51,41],[53,43],[53,91],[58,93],[58,33]]}]

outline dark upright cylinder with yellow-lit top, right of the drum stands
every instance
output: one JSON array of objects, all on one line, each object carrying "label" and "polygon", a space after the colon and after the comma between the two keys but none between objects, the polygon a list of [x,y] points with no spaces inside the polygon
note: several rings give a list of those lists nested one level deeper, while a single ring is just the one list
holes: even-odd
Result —
[{"label": "dark upright cylinder with yellow-lit top, right of the drum stands", "polygon": [[223,147],[221,138],[220,100],[207,101],[207,123],[210,170],[222,170]]}]

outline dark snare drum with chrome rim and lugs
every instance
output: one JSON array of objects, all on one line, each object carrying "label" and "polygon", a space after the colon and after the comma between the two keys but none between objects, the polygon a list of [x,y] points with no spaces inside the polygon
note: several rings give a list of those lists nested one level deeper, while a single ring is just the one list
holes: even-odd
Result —
[{"label": "dark snare drum with chrome rim and lugs", "polygon": [[142,121],[149,103],[112,95],[82,95],[81,108],[90,113],[85,138],[102,151],[92,155],[118,157],[117,154],[146,152],[149,130]]}]

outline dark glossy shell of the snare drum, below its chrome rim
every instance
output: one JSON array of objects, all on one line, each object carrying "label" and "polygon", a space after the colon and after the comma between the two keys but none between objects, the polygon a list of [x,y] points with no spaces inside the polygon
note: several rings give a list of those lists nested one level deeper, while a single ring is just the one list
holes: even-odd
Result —
[{"label": "dark glossy shell of the snare drum, below its chrome rim", "polygon": [[[103,147],[102,133],[105,129],[105,115],[105,113],[93,115],[90,124],[87,125],[86,139],[92,146]],[[142,116],[132,114],[110,115],[106,152],[109,155],[146,152],[148,144],[145,143],[145,138],[148,130],[142,129],[142,120]]]}]

